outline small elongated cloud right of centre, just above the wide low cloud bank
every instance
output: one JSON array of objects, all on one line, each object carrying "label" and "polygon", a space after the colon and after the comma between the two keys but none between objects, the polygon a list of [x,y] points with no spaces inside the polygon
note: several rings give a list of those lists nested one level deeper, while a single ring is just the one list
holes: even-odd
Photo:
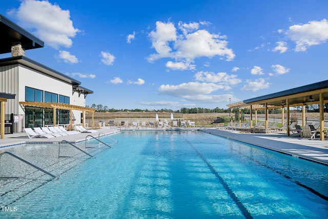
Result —
[{"label": "small elongated cloud right of centre, just above the wide low cloud bank", "polygon": [[195,74],[197,81],[209,82],[209,83],[222,83],[224,85],[236,85],[241,82],[241,79],[237,78],[238,75],[229,75],[226,72],[206,72],[199,71]]}]

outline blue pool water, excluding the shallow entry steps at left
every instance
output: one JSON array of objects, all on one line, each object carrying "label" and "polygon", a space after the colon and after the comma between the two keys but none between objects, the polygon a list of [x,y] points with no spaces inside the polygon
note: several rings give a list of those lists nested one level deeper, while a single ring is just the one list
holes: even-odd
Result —
[{"label": "blue pool water, excluding the shallow entry steps at left", "polygon": [[96,158],[68,168],[0,216],[327,218],[327,166],[200,131],[111,136],[118,141],[112,148],[91,151]]}]

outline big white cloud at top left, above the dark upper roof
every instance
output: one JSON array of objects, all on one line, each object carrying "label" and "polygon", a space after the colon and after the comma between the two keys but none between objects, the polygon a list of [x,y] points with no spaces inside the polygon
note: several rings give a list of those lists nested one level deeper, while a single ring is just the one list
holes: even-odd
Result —
[{"label": "big white cloud at top left, above the dark upper roof", "polygon": [[18,19],[20,26],[34,30],[33,34],[55,49],[71,47],[71,38],[79,32],[73,27],[70,11],[48,1],[23,0],[19,8],[9,14]]}]

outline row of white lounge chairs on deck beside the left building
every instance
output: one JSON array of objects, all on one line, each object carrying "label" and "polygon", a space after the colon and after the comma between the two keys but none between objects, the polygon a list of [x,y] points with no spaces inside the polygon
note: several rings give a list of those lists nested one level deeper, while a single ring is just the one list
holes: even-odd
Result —
[{"label": "row of white lounge chairs on deck beside the left building", "polygon": [[25,128],[25,132],[29,138],[33,137],[60,137],[65,135],[72,135],[72,134],[79,134],[79,133],[93,133],[97,132],[93,129],[85,129],[83,126],[75,126],[75,130],[67,131],[63,126],[49,126],[49,127],[34,127],[32,128]]}]

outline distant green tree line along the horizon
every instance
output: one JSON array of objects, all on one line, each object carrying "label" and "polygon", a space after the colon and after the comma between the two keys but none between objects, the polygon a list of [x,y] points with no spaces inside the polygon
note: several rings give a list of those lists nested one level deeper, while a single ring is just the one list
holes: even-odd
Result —
[{"label": "distant green tree line along the horizon", "polygon": [[[89,106],[87,106],[89,107]],[[229,113],[230,109],[223,109],[223,108],[201,108],[201,107],[194,107],[194,108],[186,108],[183,107],[179,110],[172,110],[172,109],[158,109],[158,110],[148,110],[148,109],[114,109],[109,108],[108,106],[103,106],[101,104],[92,104],[91,108],[97,109],[96,112],[172,112],[172,113]],[[305,106],[306,112],[319,112],[319,104],[313,104],[313,105],[306,105]],[[301,112],[302,107],[294,107],[294,110]],[[250,114],[250,109],[242,108],[241,113],[247,113]],[[233,113],[238,113],[239,109],[235,108],[232,111]],[[324,112],[328,112],[328,104],[324,104]],[[258,114],[264,114],[264,110],[258,110]],[[275,114],[275,113],[281,113],[281,108],[278,109],[270,109],[269,113]]]}]

